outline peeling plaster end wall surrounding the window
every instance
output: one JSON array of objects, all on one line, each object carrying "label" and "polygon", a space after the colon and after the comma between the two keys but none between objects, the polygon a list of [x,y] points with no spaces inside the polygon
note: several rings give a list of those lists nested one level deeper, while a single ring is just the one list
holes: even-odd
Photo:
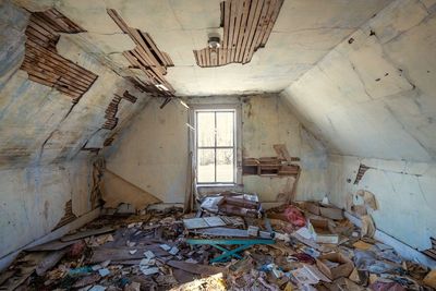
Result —
[{"label": "peeling plaster end wall surrounding the window", "polygon": [[[283,143],[301,157],[298,198],[327,194],[327,154],[277,95],[190,98],[190,104],[241,104],[242,147],[245,157],[276,156],[272,145]],[[107,153],[107,168],[165,203],[183,203],[187,169],[189,111],[173,101],[164,109],[152,100]],[[275,202],[287,190],[287,178],[243,177],[244,191]]]}]

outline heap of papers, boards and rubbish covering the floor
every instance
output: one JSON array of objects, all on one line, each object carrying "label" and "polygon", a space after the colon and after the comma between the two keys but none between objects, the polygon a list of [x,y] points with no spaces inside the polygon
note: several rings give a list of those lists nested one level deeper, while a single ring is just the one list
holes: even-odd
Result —
[{"label": "heap of papers, boards and rubbish covering the floor", "polygon": [[23,252],[0,275],[0,290],[436,288],[435,270],[404,260],[328,204],[265,211],[254,194],[223,193],[197,213],[182,210],[100,217]]}]

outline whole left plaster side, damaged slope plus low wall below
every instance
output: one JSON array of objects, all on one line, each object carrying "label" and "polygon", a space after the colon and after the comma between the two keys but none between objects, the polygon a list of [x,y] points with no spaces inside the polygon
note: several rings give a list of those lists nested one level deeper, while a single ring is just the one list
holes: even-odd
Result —
[{"label": "whole left plaster side, damaged slope plus low wall below", "polygon": [[[90,209],[89,160],[83,147],[102,148],[148,97],[104,65],[101,52],[83,50],[80,35],[62,35],[58,52],[98,74],[76,105],[71,97],[32,82],[20,70],[28,13],[0,1],[0,257],[50,232],[72,199],[73,213]],[[113,94],[121,100],[113,131],[101,130]]]}]

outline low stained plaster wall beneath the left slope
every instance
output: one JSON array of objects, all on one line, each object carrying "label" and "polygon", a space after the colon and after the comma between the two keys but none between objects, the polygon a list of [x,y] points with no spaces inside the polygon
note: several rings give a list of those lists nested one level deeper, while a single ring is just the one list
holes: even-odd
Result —
[{"label": "low stained plaster wall beneath the left slope", "polygon": [[0,170],[0,258],[52,231],[68,201],[77,217],[92,210],[90,170],[83,159]]}]

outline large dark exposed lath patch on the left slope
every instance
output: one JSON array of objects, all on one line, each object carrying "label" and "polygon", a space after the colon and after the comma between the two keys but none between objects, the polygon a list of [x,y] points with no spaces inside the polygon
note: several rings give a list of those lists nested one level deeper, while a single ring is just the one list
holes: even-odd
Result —
[{"label": "large dark exposed lath patch on the left slope", "polygon": [[77,33],[83,29],[58,11],[53,9],[49,11],[50,13],[46,11],[31,15],[21,69],[27,72],[29,80],[53,87],[73,97],[73,101],[77,101],[98,76],[57,52],[56,44],[60,37],[58,32]]}]

